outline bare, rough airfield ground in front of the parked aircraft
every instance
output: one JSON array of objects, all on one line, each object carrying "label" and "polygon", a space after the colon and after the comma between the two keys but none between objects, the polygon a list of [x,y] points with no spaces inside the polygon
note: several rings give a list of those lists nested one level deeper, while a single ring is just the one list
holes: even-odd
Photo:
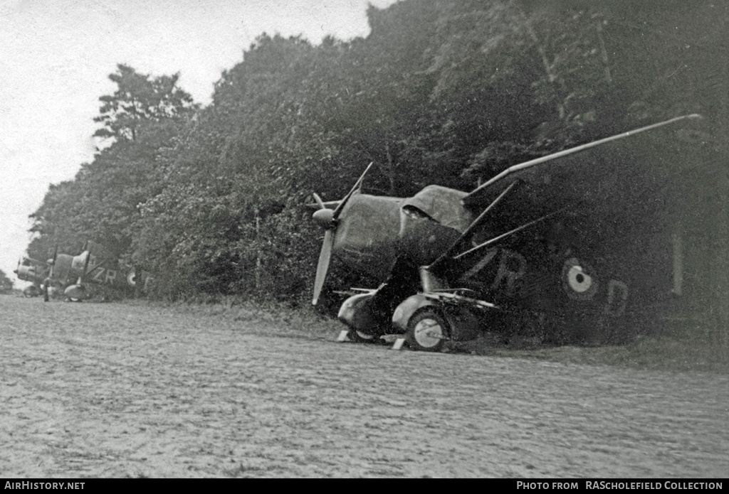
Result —
[{"label": "bare, rough airfield ground in front of the parked aircraft", "polygon": [[0,477],[726,477],[729,376],[0,297]]}]

